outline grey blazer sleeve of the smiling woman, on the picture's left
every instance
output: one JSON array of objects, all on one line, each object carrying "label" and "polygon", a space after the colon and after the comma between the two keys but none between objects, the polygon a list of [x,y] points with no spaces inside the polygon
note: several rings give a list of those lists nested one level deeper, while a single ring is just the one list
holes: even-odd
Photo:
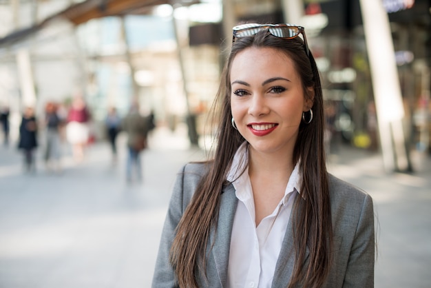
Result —
[{"label": "grey blazer sleeve of the smiling woman, on the picture's left", "polygon": [[200,181],[202,173],[202,167],[200,166],[197,164],[187,164],[185,167],[182,167],[177,175],[160,238],[156,267],[151,285],[153,288],[179,287],[174,269],[169,262],[169,251],[176,235],[176,227]]}]

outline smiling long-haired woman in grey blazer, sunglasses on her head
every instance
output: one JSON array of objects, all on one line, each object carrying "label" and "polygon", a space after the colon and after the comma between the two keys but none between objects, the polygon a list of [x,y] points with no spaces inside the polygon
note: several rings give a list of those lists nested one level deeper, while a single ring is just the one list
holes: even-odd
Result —
[{"label": "smiling long-haired woman in grey blazer, sunglasses on her head", "polygon": [[372,287],[372,199],[326,171],[304,28],[233,28],[222,79],[215,156],[178,176],[153,287]]}]

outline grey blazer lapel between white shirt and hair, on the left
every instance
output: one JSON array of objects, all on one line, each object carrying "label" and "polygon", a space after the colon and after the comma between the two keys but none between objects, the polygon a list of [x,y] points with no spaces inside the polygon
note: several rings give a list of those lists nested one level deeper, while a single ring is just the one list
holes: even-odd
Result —
[{"label": "grey blazer lapel between white shirt and hair, on the left", "polygon": [[213,227],[209,237],[209,245],[213,245],[212,254],[222,287],[227,283],[233,216],[235,216],[237,204],[238,198],[235,196],[235,188],[229,184],[222,191],[217,231]]}]

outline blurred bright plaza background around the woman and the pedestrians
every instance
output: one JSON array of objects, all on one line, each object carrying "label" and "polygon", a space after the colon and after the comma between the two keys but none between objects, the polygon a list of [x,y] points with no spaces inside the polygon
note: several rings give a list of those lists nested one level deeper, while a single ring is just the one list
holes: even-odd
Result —
[{"label": "blurred bright plaza background around the woman and the pedestrians", "polygon": [[[330,172],[376,203],[376,287],[430,287],[430,0],[0,0],[0,287],[149,287],[175,174],[202,160],[231,28],[303,25],[322,75]],[[91,117],[76,161],[44,163],[45,114]],[[107,117],[154,116],[143,181]],[[36,169],[17,150],[26,107]],[[62,118],[63,117],[63,118]],[[45,165],[44,165],[45,164]]]}]

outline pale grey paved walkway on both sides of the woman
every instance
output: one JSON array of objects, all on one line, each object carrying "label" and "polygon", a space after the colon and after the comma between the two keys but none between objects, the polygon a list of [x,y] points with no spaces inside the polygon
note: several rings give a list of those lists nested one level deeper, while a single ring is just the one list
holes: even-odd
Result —
[{"label": "pale grey paved walkway on both sides of the woman", "polygon": [[[175,174],[203,158],[182,135],[159,130],[132,185],[125,151],[112,165],[105,143],[78,165],[66,151],[61,174],[23,174],[21,155],[0,147],[0,288],[149,287]],[[344,147],[328,165],[375,200],[377,288],[430,287],[431,160],[414,163],[416,174],[388,175],[379,155]]]}]

